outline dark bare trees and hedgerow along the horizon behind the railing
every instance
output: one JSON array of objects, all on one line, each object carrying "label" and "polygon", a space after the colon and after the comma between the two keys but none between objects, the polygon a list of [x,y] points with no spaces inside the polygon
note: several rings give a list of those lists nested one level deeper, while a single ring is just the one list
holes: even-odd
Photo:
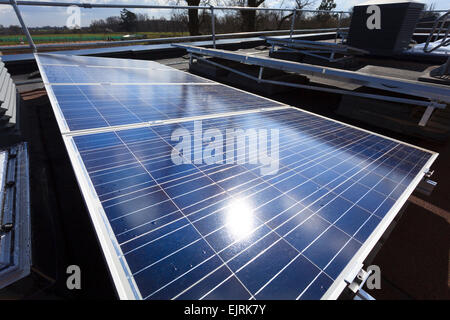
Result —
[{"label": "dark bare trees and hedgerow along the horizon behind the railing", "polygon": [[[214,1],[214,3],[213,3]],[[338,25],[338,16],[331,11],[336,8],[335,0],[281,0],[279,6],[297,9],[318,9],[324,13],[297,12],[295,28],[329,28]],[[179,5],[208,6],[221,4],[241,7],[264,7],[265,0],[178,0]],[[433,9],[430,7],[429,9]],[[348,26],[350,16],[343,15],[340,26]],[[425,15],[424,15],[425,18]],[[427,16],[429,20],[435,16]],[[217,33],[251,32],[265,30],[289,29],[291,26],[292,11],[254,11],[230,10],[215,11],[215,29]],[[149,17],[147,14],[134,13],[123,9],[119,16],[106,19],[93,20],[88,27],[74,32],[67,27],[41,27],[30,28],[32,33],[113,33],[113,32],[164,32],[185,33],[201,35],[211,33],[211,12],[204,9],[173,10],[168,18]],[[0,25],[0,34],[20,34],[19,26],[3,27]]]}]

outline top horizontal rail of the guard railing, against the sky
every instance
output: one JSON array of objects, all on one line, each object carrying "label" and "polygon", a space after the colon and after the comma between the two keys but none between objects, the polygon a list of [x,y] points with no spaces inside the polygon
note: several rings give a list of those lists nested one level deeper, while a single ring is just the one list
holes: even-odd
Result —
[{"label": "top horizontal rail of the guard railing, against the sky", "polygon": [[[0,0],[0,4],[9,4],[8,0]],[[38,6],[38,7],[69,7],[79,6],[83,8],[135,8],[135,9],[200,9],[210,10],[210,6],[176,6],[176,5],[143,5],[143,4],[106,4],[106,3],[89,3],[89,2],[50,2],[50,1],[17,1],[21,6]],[[239,7],[239,6],[217,6],[214,10],[238,10],[238,11],[290,11],[298,12],[323,12],[323,13],[351,13],[350,11],[327,11],[327,10],[307,10],[293,8],[266,8],[266,7]]]}]

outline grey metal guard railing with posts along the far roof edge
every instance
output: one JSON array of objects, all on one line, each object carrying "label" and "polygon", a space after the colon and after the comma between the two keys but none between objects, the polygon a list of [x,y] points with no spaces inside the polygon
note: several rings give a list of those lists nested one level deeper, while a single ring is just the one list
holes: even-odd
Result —
[{"label": "grey metal guard railing with posts along the far roof edge", "polygon": [[[104,45],[126,45],[126,44],[136,44],[136,43],[152,43],[152,42],[167,42],[169,39],[172,41],[191,41],[191,40],[204,40],[211,39],[213,47],[216,48],[216,40],[219,38],[225,38],[229,36],[251,36],[251,35],[267,35],[267,34],[282,34],[287,33],[292,38],[294,33],[298,32],[329,32],[344,30],[346,28],[340,27],[342,15],[344,13],[350,14],[349,11],[327,11],[327,10],[308,10],[308,9],[297,9],[297,8],[266,8],[266,7],[240,7],[240,6],[177,6],[177,5],[144,5],[144,4],[106,4],[106,3],[88,3],[88,2],[49,2],[49,1],[16,1],[16,0],[0,0],[0,5],[11,5],[17,15],[19,23],[22,30],[27,37],[29,45],[20,46],[3,46],[0,50],[17,50],[17,49],[32,49],[33,52],[37,52],[38,49],[43,48],[53,48],[53,47],[92,47],[92,46],[104,46]],[[70,7],[77,6],[80,8],[93,9],[93,8],[129,8],[129,9],[197,9],[197,10],[209,10],[211,13],[211,34],[206,36],[187,36],[187,37],[176,37],[176,38],[166,38],[166,39],[141,39],[141,40],[125,40],[125,41],[114,41],[114,42],[90,42],[90,43],[72,43],[72,44],[44,44],[36,45],[33,38],[30,35],[27,25],[25,24],[19,6],[37,6],[37,7]],[[247,33],[225,33],[216,34],[216,22],[215,22],[215,11],[216,10],[234,10],[234,11],[277,11],[277,12],[291,12],[291,28],[289,30],[274,30],[274,31],[264,31],[264,32],[247,32]],[[323,28],[323,29],[299,29],[295,30],[295,19],[298,13],[327,13],[333,14],[338,17],[337,28]],[[337,38],[335,39],[337,41]]]}]

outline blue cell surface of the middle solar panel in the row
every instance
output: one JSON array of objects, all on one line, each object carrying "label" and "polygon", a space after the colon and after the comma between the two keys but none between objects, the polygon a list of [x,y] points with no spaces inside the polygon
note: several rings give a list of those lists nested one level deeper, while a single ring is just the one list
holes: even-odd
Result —
[{"label": "blue cell surface of the middle solar panel in the row", "polygon": [[281,106],[223,85],[54,85],[52,89],[72,131]]}]

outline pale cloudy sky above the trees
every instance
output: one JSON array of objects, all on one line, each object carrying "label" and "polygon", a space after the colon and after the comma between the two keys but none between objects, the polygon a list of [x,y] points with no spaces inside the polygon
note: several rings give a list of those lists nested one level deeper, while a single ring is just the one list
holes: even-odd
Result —
[{"label": "pale cloudy sky above the trees", "polygon": [[[43,1],[43,0],[38,0]],[[55,1],[55,0],[45,0],[45,1]],[[126,4],[126,3],[139,3],[139,4],[176,4],[176,0],[57,0],[59,2],[90,2],[90,3],[114,3],[114,4]],[[219,4],[224,3],[226,0],[216,0]],[[335,0],[337,6],[336,10],[349,10],[355,4],[366,2],[367,0]],[[420,0],[427,5],[434,4],[435,9],[449,9],[448,0]],[[182,1],[180,1],[182,2]],[[267,7],[278,8],[280,6],[291,8],[293,7],[293,0],[266,0]],[[311,9],[317,8],[320,0],[316,0],[316,3]],[[30,7],[21,6],[20,8],[22,16],[25,23],[29,27],[39,27],[39,26],[63,26],[66,24],[66,20],[69,14],[66,12],[67,8],[57,8],[57,7]],[[106,18],[109,16],[119,15],[120,10],[115,9],[82,9],[81,10],[81,25],[88,26],[92,20]],[[133,12],[147,13],[150,17],[160,17],[160,16],[170,16],[172,10],[157,10],[157,9],[142,9],[142,10],[132,10]],[[0,24],[8,26],[11,24],[18,25],[19,22],[14,14],[14,11],[9,5],[0,5]]]}]

